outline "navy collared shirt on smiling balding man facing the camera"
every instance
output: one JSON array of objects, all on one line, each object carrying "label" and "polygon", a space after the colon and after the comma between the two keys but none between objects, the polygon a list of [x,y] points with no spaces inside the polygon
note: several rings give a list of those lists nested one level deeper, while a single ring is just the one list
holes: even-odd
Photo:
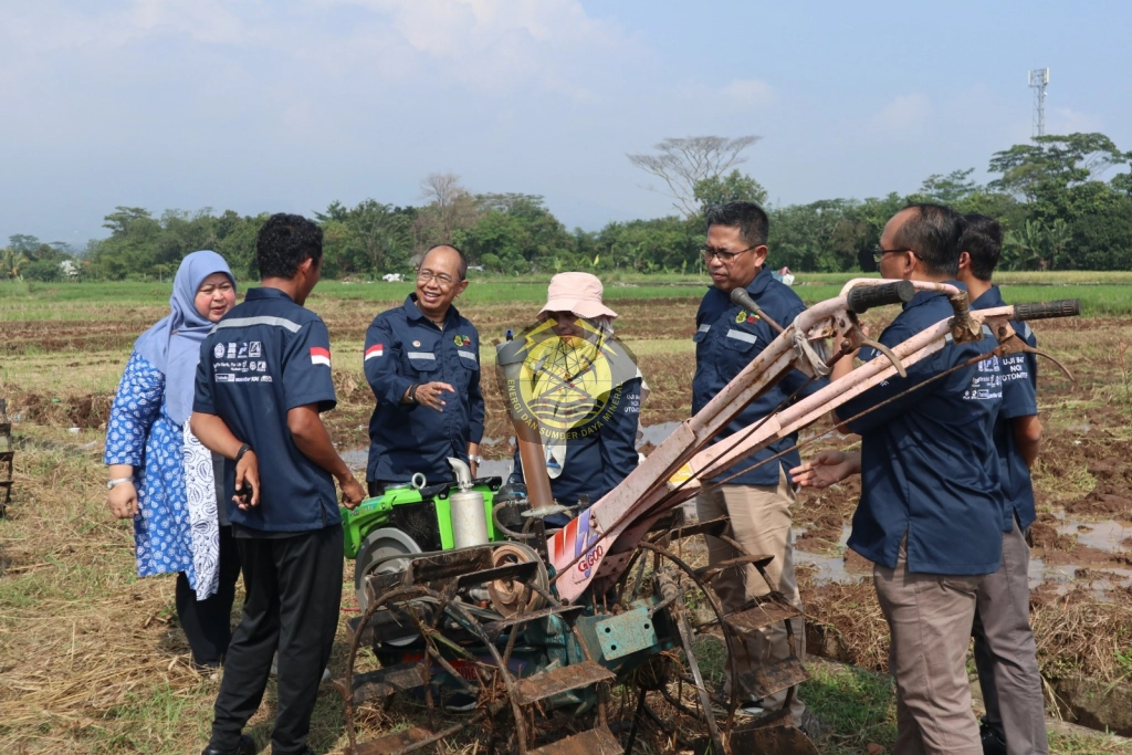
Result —
[{"label": "navy collared shirt on smiling balding man facing the camera", "polygon": [[[455,479],[448,457],[468,461],[468,444],[483,437],[480,336],[448,308],[444,328],[424,317],[412,293],[401,307],[374,318],[363,358],[377,407],[369,420],[367,480],[408,482],[417,472],[429,482]],[[402,404],[412,384],[447,383],[443,412]]]}]

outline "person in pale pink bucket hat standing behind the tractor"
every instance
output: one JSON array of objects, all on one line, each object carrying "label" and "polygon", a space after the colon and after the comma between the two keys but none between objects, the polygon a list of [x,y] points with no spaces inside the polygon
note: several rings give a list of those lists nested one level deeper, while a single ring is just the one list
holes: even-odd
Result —
[{"label": "person in pale pink bucket hat standing behind the tractor", "polygon": [[[589,273],[559,273],[550,278],[547,303],[538,314],[549,326],[549,331],[543,328],[549,337],[528,358],[532,370],[547,378],[534,383],[540,406],[535,413],[550,490],[564,506],[577,504],[583,496],[597,501],[628,477],[640,458],[638,419],[649,387],[635,364],[609,369],[602,363],[628,354],[619,350],[609,357],[610,350],[602,349],[614,335],[617,317],[602,301],[602,293],[601,281]],[[576,371],[569,367],[572,361],[578,364]],[[624,376],[634,377],[618,383]],[[523,465],[516,451],[509,482],[522,481]],[[551,526],[568,522],[564,514],[547,517]]]}]

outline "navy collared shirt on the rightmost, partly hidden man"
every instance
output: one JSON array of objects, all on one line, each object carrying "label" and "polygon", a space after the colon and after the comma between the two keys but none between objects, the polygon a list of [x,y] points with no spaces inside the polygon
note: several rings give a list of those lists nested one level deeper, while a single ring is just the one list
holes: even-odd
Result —
[{"label": "navy collared shirt on the rightmost, partly hidden man", "polygon": [[[971,302],[971,309],[992,309],[1005,307],[998,286],[987,289],[981,297]],[[1023,321],[1012,320],[1018,337],[1031,348],[1038,345],[1030,326]],[[1002,492],[1005,497],[1005,518],[1003,532],[1014,527],[1014,517],[1024,530],[1037,518],[1034,507],[1034,484],[1030,481],[1030,467],[1018,451],[1014,440],[1014,428],[1011,420],[1019,417],[1035,417],[1038,413],[1038,358],[1029,353],[1010,354],[1002,360],[1002,409],[994,424],[994,444],[998,451],[998,473]]]}]

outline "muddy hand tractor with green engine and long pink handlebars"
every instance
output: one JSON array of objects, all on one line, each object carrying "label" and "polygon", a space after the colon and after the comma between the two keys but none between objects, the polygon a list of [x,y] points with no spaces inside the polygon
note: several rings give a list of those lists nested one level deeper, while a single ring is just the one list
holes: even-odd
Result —
[{"label": "muddy hand tractor with green engine and long pink handlebars", "polygon": [[[953,317],[892,349],[868,338],[858,315],[909,301],[917,290],[946,293]],[[745,291],[732,298],[758,314]],[[454,484],[428,486],[418,475],[343,509],[361,607],[346,674],[336,681],[348,752],[816,753],[789,714],[807,678],[789,621],[800,611],[766,580],[772,557],[747,552],[730,538],[727,520],[684,522],[680,505],[736,477],[732,467],[751,469],[743,462],[771,441],[903,375],[949,341],[978,341],[989,328],[998,346],[979,359],[1002,357],[1028,349],[1011,320],[1078,312],[1075,301],[969,311],[967,294],[946,284],[850,281],[841,295],[777,328],[778,337],[718,396],[592,505],[567,508],[551,499],[539,435],[514,415],[525,486],[473,480],[452,460]],[[884,358],[805,397],[790,396],[764,420],[711,445],[789,370],[817,380],[863,345]],[[526,348],[522,338],[500,346],[505,395],[529,367]],[[563,512],[573,518],[550,532],[546,518]],[[697,566],[704,535],[732,546],[735,557]],[[765,593],[727,612],[712,580],[748,566],[766,581]],[[791,654],[734,674],[738,643],[782,624]],[[729,686],[715,684],[723,669],[732,671]],[[740,714],[740,701],[782,690],[783,710]]]}]

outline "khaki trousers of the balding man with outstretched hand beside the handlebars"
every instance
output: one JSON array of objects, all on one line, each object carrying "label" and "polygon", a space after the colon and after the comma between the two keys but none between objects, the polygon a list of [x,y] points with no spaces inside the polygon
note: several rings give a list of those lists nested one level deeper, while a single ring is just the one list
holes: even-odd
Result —
[{"label": "khaki trousers of the balding man with outstretched hand beside the handlebars", "polygon": [[895,755],[983,755],[971,712],[967,646],[981,576],[912,574],[904,544],[897,568],[873,580],[889,623],[889,671],[897,683]]}]

